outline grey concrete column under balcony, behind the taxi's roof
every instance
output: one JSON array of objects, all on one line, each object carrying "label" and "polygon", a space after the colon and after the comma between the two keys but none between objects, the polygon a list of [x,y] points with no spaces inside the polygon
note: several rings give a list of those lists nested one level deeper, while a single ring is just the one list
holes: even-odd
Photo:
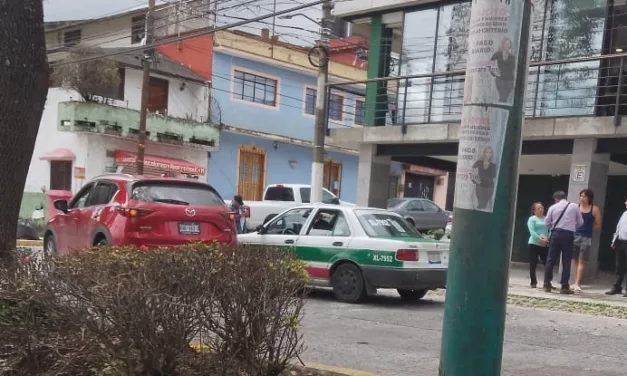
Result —
[{"label": "grey concrete column under balcony, behind the taxi's roof", "polygon": [[378,157],[377,145],[359,146],[357,205],[387,207],[390,190],[391,157]]}]

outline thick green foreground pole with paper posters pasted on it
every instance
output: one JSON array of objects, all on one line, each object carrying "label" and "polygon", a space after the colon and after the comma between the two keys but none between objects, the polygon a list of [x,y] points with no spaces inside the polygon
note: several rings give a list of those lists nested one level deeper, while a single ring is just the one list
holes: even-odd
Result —
[{"label": "thick green foreground pole with paper posters pasted on it", "polygon": [[531,0],[473,0],[440,376],[499,376]]}]

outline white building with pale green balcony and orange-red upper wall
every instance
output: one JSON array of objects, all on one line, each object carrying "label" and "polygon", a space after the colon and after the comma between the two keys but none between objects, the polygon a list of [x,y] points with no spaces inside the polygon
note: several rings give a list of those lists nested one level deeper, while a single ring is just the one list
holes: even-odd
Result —
[{"label": "white building with pale green balcony and orange-red upper wall", "polygon": [[[156,36],[206,26],[205,14],[195,11],[201,3],[159,6]],[[143,52],[132,48],[142,43],[145,11],[46,25],[53,70],[55,63],[76,59],[72,52],[91,53],[115,64],[119,84],[98,88],[90,98],[58,87],[60,83],[51,85],[20,217],[30,218],[42,207],[49,215],[52,199],[77,192],[97,175],[135,173]],[[172,28],[173,20],[181,16],[185,21]],[[208,152],[219,149],[220,136],[219,126],[211,123],[212,48],[213,38],[200,36],[161,45],[155,52],[149,80],[146,175],[207,179]]]}]

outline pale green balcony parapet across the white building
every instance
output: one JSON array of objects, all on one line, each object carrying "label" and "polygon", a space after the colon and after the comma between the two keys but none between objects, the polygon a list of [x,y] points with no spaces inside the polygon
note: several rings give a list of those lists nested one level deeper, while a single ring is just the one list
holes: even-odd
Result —
[{"label": "pale green balcony parapet across the white building", "polygon": [[[94,132],[137,137],[139,111],[92,102],[60,102],[58,128],[70,132]],[[150,141],[195,145],[218,150],[220,129],[194,120],[149,113],[146,119]]]}]

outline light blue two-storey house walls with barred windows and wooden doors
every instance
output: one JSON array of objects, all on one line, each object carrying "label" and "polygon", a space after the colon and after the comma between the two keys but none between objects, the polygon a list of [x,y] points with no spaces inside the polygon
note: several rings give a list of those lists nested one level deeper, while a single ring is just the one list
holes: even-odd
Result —
[{"label": "light blue two-storey house walls with barred windows and wooden doors", "polygon": [[[309,184],[315,70],[216,48],[212,86],[224,128],[220,151],[209,155],[209,183],[225,198],[239,193],[245,201],[260,200],[268,184]],[[329,100],[330,127],[363,125],[363,96],[337,93]],[[355,202],[357,162],[354,150],[326,148],[325,188]]]}]

